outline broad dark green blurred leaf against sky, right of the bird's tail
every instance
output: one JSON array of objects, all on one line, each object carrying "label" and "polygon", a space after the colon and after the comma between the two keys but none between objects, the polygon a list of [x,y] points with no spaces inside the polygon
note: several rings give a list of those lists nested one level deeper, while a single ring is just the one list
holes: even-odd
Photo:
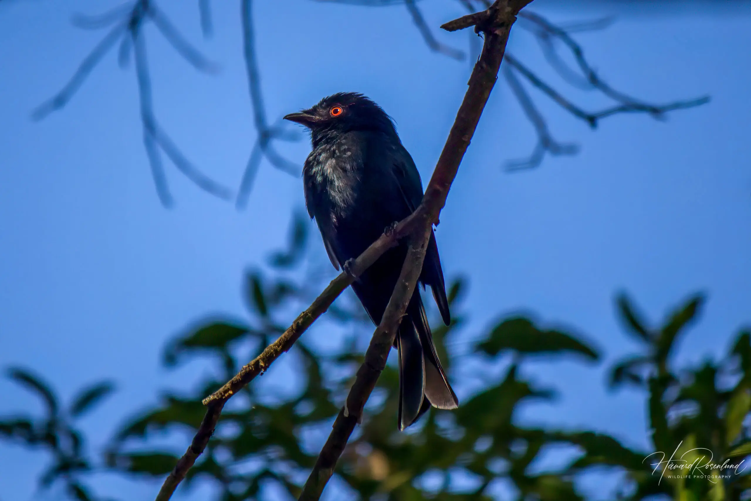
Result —
[{"label": "broad dark green blurred leaf against sky, right of the bird's tail", "polygon": [[539,330],[527,318],[509,318],[496,325],[476,351],[495,356],[512,351],[524,354],[572,353],[597,360],[599,354],[575,337],[560,330]]}]

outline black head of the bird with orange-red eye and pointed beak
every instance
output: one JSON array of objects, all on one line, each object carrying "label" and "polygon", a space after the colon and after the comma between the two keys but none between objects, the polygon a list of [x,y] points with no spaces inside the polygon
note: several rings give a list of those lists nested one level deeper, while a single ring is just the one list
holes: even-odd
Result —
[{"label": "black head of the bird with orange-red eye and pointed beak", "polygon": [[314,107],[284,118],[309,128],[314,144],[319,138],[348,131],[372,130],[397,135],[391,117],[378,104],[356,92],[330,95]]}]

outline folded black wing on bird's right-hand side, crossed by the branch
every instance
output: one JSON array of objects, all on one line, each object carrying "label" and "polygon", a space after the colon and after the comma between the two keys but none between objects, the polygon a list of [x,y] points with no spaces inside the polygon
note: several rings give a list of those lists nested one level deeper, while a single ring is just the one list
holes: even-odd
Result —
[{"label": "folded black wing on bird's right-hand side, crossed by the branch", "polygon": [[[415,166],[412,156],[404,148],[399,146],[394,149],[391,155],[391,164],[393,165],[394,178],[397,182],[400,192],[409,207],[411,213],[420,205],[423,198],[422,180],[420,173]],[[443,323],[448,325],[451,322],[451,313],[448,310],[448,298],[446,297],[446,285],[443,279],[443,270],[441,268],[441,258],[438,255],[438,244],[436,235],[430,230],[430,241],[428,242],[427,251],[425,252],[425,261],[423,264],[421,282],[430,285],[433,291],[433,298],[436,300],[438,309],[441,312]]]}]

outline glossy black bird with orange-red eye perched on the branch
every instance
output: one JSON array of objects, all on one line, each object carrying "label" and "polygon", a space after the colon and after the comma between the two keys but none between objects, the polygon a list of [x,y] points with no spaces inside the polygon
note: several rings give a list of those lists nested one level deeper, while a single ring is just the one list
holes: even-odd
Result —
[{"label": "glossy black bird with orange-red eye perched on the branch", "polygon": [[[318,223],[331,264],[339,270],[385,228],[415,211],[423,197],[420,174],[391,117],[361,94],[340,92],[284,118],[310,129],[312,152],[303,167],[305,203]],[[406,252],[404,243],[388,250],[352,284],[375,324],[385,312]],[[423,288],[430,285],[448,325],[451,315],[432,231],[420,283]],[[399,351],[400,430],[431,405],[439,409],[459,405],[438,360],[418,289],[394,345]]]}]

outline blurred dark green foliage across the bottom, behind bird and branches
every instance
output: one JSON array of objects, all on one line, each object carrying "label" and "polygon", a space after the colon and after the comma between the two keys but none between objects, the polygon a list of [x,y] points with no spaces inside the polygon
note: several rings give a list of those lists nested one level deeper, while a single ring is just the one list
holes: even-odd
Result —
[{"label": "blurred dark green foliage across the bottom, behind bird and branches", "polygon": [[[128,418],[104,451],[107,469],[159,481],[170,472],[201,423],[201,400],[282,333],[330,278],[324,261],[308,252],[308,228],[297,215],[288,249],[270,256],[266,267],[247,271],[247,318],[207,315],[168,343],[164,365],[191,364],[201,375],[198,383],[187,391],[166,391],[155,405]],[[471,395],[459,409],[431,409],[400,433],[398,373],[389,365],[339,461],[337,487],[330,489],[343,490],[345,499],[574,500],[587,499],[578,479],[594,472],[617,478],[614,492],[598,493],[598,499],[748,499],[751,477],[743,470],[751,454],[751,334],[741,332],[721,361],[680,369],[672,362],[701,309],[701,295],[690,297],[656,329],[626,295],[617,298],[626,333],[641,351],[611,367],[609,384],[644,391],[653,448],[640,451],[604,433],[520,422],[527,403],[555,396],[554,388],[526,378],[526,361],[591,364],[599,352],[578,333],[519,315],[501,318],[471,341],[459,340],[465,290],[463,280],[451,282],[451,325],[436,315],[433,334],[452,382],[474,388]],[[324,322],[225,406],[215,436],[185,484],[210,481],[216,499],[226,501],[297,496],[363,361],[372,329],[351,293],[339,298]],[[333,340],[335,347],[321,340]],[[50,451],[53,464],[41,478],[42,487],[59,479],[67,482],[71,497],[92,499],[80,481],[91,462],[82,454],[80,431],[69,421],[111,386],[83,391],[63,415],[47,385],[20,370],[12,375],[44,399],[47,417],[2,421],[2,436]],[[551,469],[540,466],[561,448],[572,459]],[[686,461],[692,463],[690,472],[668,467]],[[741,461],[737,472],[722,466]],[[691,475],[679,478],[681,473]]]}]

